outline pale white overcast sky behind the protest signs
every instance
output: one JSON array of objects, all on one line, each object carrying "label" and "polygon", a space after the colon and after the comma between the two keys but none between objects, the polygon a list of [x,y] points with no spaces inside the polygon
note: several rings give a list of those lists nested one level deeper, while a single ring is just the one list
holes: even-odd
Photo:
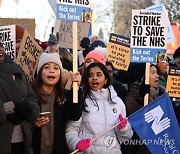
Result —
[{"label": "pale white overcast sky behind the protest signs", "polygon": [[[91,0],[91,3],[96,7],[105,1],[106,0]],[[35,18],[36,37],[41,41],[48,39],[51,27],[54,26],[55,22],[55,14],[48,0],[2,0],[0,17]],[[98,28],[98,26],[96,27]]]}]

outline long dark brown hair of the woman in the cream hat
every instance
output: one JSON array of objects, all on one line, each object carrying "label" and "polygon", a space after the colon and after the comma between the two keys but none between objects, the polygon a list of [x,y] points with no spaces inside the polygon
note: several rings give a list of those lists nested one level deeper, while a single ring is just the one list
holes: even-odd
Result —
[{"label": "long dark brown hair of the woman in the cream hat", "polygon": [[[40,103],[40,104],[46,103],[46,100],[43,100],[42,95],[41,95],[41,88],[42,88],[42,84],[43,84],[42,70],[44,68],[44,65],[39,70],[37,78],[31,83],[32,89],[36,93],[36,95],[38,97],[38,100],[39,100],[38,103]],[[58,103],[64,102],[64,99],[65,99],[65,90],[64,90],[64,84],[63,84],[63,72],[62,72],[62,69],[60,69],[60,77],[59,77],[59,80],[56,83],[54,89],[55,89],[55,99],[56,99],[56,102],[58,102]]]}]

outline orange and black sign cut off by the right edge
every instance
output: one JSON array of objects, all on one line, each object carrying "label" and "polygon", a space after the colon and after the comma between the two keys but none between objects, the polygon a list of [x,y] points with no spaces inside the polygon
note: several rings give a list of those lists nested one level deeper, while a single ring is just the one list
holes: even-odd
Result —
[{"label": "orange and black sign cut off by the right edge", "polygon": [[166,92],[169,94],[170,97],[180,98],[180,68],[169,68]]}]

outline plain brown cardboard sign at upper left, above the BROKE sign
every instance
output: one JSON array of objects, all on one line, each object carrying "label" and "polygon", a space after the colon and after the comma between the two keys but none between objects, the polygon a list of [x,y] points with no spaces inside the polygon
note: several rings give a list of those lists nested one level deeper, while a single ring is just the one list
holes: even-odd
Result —
[{"label": "plain brown cardboard sign at upper left, above the BROKE sign", "polygon": [[0,26],[20,24],[34,38],[35,37],[35,19],[17,19],[17,18],[0,18]]}]

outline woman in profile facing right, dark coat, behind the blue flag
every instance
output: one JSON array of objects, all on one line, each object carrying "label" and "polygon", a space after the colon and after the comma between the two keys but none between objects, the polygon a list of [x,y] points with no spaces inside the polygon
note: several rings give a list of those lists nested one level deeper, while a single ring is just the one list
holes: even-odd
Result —
[{"label": "woman in profile facing right, dark coat, behind the blue flag", "polygon": [[[131,75],[134,76],[134,82],[131,84],[130,91],[126,96],[125,105],[127,115],[131,115],[144,106],[144,96],[149,93],[148,102],[155,100],[165,93],[165,88],[159,85],[159,75],[156,66],[151,64],[149,71],[149,85],[145,85],[145,63],[135,64]],[[138,145],[130,145],[128,153],[131,154],[150,154],[140,138],[134,133],[132,140],[136,140]]]}]

